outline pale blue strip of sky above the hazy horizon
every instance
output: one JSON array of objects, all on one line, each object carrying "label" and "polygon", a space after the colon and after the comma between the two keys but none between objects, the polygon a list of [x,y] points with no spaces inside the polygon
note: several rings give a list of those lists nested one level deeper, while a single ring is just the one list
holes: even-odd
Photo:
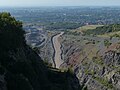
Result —
[{"label": "pale blue strip of sky above the hazy horizon", "polygon": [[0,0],[0,7],[120,6],[120,0]]}]

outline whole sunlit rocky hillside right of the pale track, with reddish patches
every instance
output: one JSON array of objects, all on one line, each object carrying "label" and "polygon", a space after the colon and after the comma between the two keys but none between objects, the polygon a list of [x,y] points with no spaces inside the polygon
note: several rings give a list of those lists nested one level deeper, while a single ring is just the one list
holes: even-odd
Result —
[{"label": "whole sunlit rocky hillside right of the pale track, with reddish patches", "polygon": [[[120,90],[120,44],[112,44],[107,49],[97,50],[96,46],[99,43],[87,42],[84,44],[86,40],[81,38],[77,40],[79,39],[77,36],[66,35],[64,37],[63,57],[65,62],[62,67],[73,68],[83,88]],[[111,48],[113,46],[114,48]]]}]

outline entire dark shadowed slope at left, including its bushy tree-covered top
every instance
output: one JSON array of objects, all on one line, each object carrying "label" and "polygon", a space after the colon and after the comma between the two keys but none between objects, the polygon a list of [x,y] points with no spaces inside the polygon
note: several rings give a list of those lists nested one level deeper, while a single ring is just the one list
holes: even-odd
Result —
[{"label": "entire dark shadowed slope at left, including its bushy tree-covered top", "polygon": [[75,75],[46,67],[23,34],[19,21],[0,14],[0,90],[80,90]]}]

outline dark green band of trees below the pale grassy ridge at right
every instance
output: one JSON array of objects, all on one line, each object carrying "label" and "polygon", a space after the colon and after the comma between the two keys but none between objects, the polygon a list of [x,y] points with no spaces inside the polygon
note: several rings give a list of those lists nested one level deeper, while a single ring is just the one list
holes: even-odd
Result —
[{"label": "dark green band of trees below the pale grassy ridge at right", "polygon": [[120,31],[120,24],[112,24],[112,25],[97,27],[96,29],[84,31],[84,34],[102,35],[105,33],[117,32],[117,31]]}]

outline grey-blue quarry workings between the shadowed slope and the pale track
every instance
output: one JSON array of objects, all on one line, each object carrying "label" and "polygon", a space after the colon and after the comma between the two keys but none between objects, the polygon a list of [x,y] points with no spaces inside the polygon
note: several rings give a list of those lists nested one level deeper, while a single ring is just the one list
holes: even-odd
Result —
[{"label": "grey-blue quarry workings between the shadowed slope and the pale track", "polygon": [[28,24],[23,25],[25,29],[25,39],[27,45],[31,46],[37,53],[42,60],[45,60],[49,63],[53,63],[53,47],[51,36],[52,33],[43,30],[41,25],[36,24]]}]

